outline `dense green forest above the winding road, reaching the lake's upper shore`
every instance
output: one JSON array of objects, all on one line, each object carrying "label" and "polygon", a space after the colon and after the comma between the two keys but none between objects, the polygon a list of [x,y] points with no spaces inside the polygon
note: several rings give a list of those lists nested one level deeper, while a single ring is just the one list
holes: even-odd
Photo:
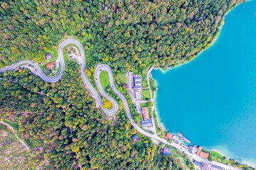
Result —
[{"label": "dense green forest above the winding road, reaching the lake's upper shore", "polygon": [[218,34],[225,13],[245,0],[4,0],[0,4],[0,67],[43,62],[58,42],[73,37],[87,67],[114,72],[191,60]]}]

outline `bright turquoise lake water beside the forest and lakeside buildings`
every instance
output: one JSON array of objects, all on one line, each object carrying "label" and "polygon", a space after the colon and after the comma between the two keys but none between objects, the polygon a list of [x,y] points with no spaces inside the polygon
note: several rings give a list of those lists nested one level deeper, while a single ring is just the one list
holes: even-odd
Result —
[{"label": "bright turquoise lake water beside the forest and lakeside buildings", "polygon": [[239,162],[256,162],[256,1],[225,17],[217,40],[192,62],[152,77],[170,132]]}]

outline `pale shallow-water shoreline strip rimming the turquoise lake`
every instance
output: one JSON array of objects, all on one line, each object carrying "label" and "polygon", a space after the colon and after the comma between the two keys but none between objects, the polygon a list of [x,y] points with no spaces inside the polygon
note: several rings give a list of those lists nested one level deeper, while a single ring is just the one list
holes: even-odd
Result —
[{"label": "pale shallow-water shoreline strip rimming the turquoise lake", "polygon": [[[249,1],[250,1],[250,0],[249,0]],[[245,2],[247,2],[247,1],[245,1]],[[242,4],[245,4],[245,2],[242,3]],[[239,5],[240,5],[240,4],[238,4],[237,6],[239,6]],[[231,11],[233,11],[237,6],[235,6],[234,8],[230,9],[227,13],[225,13],[225,15],[224,15],[224,17],[223,17],[223,20],[221,20],[220,22],[222,22],[222,21],[224,22],[224,21],[225,21],[225,17],[226,17]],[[222,33],[221,30],[223,30],[224,24],[225,24],[225,23],[223,23],[221,26],[219,26],[220,31],[218,32],[218,35],[217,35],[215,38],[213,38],[213,40],[212,40],[212,42],[210,43],[209,47],[207,47],[205,50],[201,50],[201,51],[198,53],[198,55],[196,55],[196,57],[193,58],[193,60],[196,60],[196,58],[200,57],[200,55],[201,55],[203,52],[206,52],[206,50],[208,50],[210,47],[213,47],[213,45],[216,44],[217,40],[218,40],[219,37],[222,35],[222,34],[221,34],[221,33]],[[184,64],[189,64],[189,63],[191,63],[193,60],[191,60],[191,61],[184,60],[184,61],[180,62],[179,64],[177,64],[176,66],[174,66],[174,67],[169,67],[169,68],[167,68],[167,69],[162,69],[161,67],[160,67],[160,68],[159,68],[159,67],[156,67],[156,68],[154,68],[154,69],[159,69],[161,73],[166,74],[166,72],[169,72],[169,71],[172,70],[172,69],[180,68],[180,67],[183,66]],[[178,62],[176,62],[176,63],[178,63]],[[156,79],[154,79],[154,78],[152,77],[152,75],[151,75],[151,79],[154,80],[154,84],[155,84],[155,86],[156,86],[156,91],[154,92],[154,96],[155,96],[155,97],[154,97],[154,108],[155,108],[155,112],[156,112],[156,120],[157,120],[157,122],[158,122],[158,124],[159,124],[159,128],[161,128],[162,130],[164,130],[164,131],[167,132],[167,130],[166,130],[166,125],[164,125],[164,123],[161,122],[161,116],[160,116],[159,110],[158,110],[158,108],[157,108],[157,93],[156,93],[156,92],[157,92],[157,90],[158,90],[158,82],[156,81]],[[168,130],[168,131],[169,131],[169,130]],[[170,131],[170,132],[171,132],[171,131]],[[172,133],[174,133],[174,135],[176,135],[176,132],[172,132]],[[191,143],[193,143],[193,142],[191,142]],[[189,144],[186,143],[186,145],[189,145]],[[229,159],[235,159],[235,161],[236,161],[236,162],[239,162],[240,164],[244,164],[244,165],[246,165],[246,166],[252,166],[252,167],[256,166],[256,164],[253,163],[253,162],[255,162],[255,160],[235,157],[235,155],[233,155],[232,152],[230,152],[228,149],[225,149],[225,148],[222,148],[222,149],[221,149],[221,148],[218,148],[218,149],[217,149],[216,147],[218,147],[218,146],[213,146],[213,147],[206,147],[206,146],[203,146],[203,147],[205,147],[206,150],[208,150],[209,152],[217,152],[218,154],[222,155],[223,157],[226,157],[226,159],[228,159],[228,160],[229,160]],[[223,153],[224,153],[224,154],[223,154]]]}]

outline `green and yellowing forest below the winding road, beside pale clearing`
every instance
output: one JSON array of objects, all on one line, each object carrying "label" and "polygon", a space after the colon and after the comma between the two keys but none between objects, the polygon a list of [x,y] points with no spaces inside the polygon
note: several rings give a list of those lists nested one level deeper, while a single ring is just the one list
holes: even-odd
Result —
[{"label": "green and yellowing forest below the winding road, beside pale clearing", "polygon": [[153,169],[160,160],[160,169],[179,168],[148,137],[138,134],[139,144],[132,141],[136,130],[124,109],[116,120],[102,114],[82,84],[79,65],[67,64],[69,72],[51,84],[28,69],[0,74],[0,119],[14,124],[31,147],[26,168]]}]

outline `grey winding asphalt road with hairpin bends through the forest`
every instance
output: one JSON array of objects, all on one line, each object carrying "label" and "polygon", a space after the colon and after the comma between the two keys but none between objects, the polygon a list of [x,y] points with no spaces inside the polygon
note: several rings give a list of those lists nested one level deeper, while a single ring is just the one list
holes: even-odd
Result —
[{"label": "grey winding asphalt road with hairpin bends through the forest", "polygon": [[[159,140],[159,141],[164,142],[164,143],[166,143],[168,145],[171,145],[172,147],[175,147],[176,149],[178,149],[178,151],[184,152],[185,154],[187,154],[188,157],[191,160],[195,159],[195,160],[197,160],[199,162],[208,162],[207,159],[203,159],[202,157],[198,157],[196,154],[189,153],[188,150],[186,150],[185,148],[181,147],[181,145],[176,144],[175,142],[169,143],[169,142],[167,142],[166,139],[161,138],[161,137],[159,137],[157,135],[152,135],[151,133],[146,132],[145,130],[142,130],[142,128],[139,128],[139,126],[136,123],[134,123],[134,120],[132,119],[132,115],[131,115],[131,112],[129,110],[129,104],[127,102],[127,99],[117,90],[116,86],[114,86],[114,79],[112,77],[112,70],[111,70],[111,68],[108,65],[106,65],[106,64],[98,64],[97,69],[95,70],[95,81],[97,83],[97,87],[98,87],[98,89],[100,91],[100,94],[102,94],[102,96],[104,96],[107,100],[110,100],[112,102],[112,105],[113,105],[111,110],[103,108],[102,98],[100,98],[99,94],[97,94],[97,91],[95,91],[95,89],[93,88],[92,84],[90,84],[90,81],[87,79],[87,76],[84,73],[84,70],[85,70],[85,51],[84,51],[81,43],[78,40],[65,39],[62,42],[60,42],[60,45],[58,47],[58,60],[57,60],[58,62],[60,62],[60,74],[58,74],[58,76],[56,76],[56,77],[47,77],[46,74],[43,73],[43,71],[41,70],[41,68],[38,66],[37,63],[31,62],[29,60],[23,60],[21,62],[17,62],[16,64],[12,64],[9,67],[4,67],[3,69],[0,69],[0,72],[5,72],[6,70],[16,69],[16,67],[20,66],[21,64],[28,63],[28,64],[33,65],[33,67],[36,68],[36,70],[38,72],[38,76],[41,77],[44,81],[56,82],[56,81],[58,81],[62,77],[63,72],[65,70],[65,61],[64,61],[64,58],[63,58],[63,49],[68,44],[75,44],[75,45],[78,46],[78,48],[79,48],[79,50],[81,52],[80,55],[82,57],[82,62],[80,64],[80,67],[81,67],[80,72],[81,72],[82,81],[84,82],[85,86],[87,86],[87,88],[92,92],[92,96],[94,96],[96,98],[96,100],[98,101],[98,103],[100,103],[102,111],[104,111],[107,115],[114,115],[114,113],[117,113],[117,111],[118,111],[118,104],[117,104],[117,102],[114,101],[113,98],[111,98],[110,96],[108,96],[105,93],[104,89],[102,88],[102,85],[100,84],[100,72],[106,71],[108,73],[109,77],[110,77],[110,85],[111,85],[113,91],[117,94],[117,96],[119,96],[119,98],[122,99],[122,102],[124,103],[125,110],[127,112],[127,116],[129,118],[129,120],[131,121],[131,124],[134,126],[134,128],[138,132],[142,133],[142,135],[150,137],[151,139]],[[227,166],[225,164],[220,164],[218,162],[208,162],[208,163],[214,164],[216,166],[221,166],[224,169],[235,169],[232,166]]]}]

